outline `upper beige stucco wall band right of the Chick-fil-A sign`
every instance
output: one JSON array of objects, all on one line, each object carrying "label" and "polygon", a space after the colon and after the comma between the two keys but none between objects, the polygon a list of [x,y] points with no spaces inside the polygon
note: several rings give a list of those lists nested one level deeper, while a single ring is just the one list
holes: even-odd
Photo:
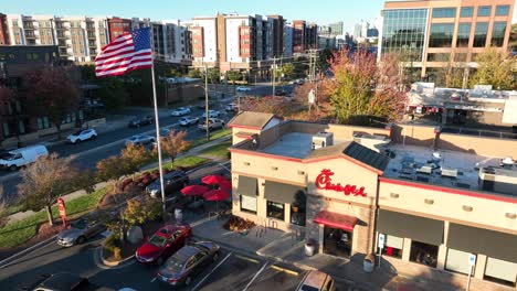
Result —
[{"label": "upper beige stucco wall band right of the Chick-fil-A sign", "polygon": [[[517,235],[517,219],[506,217],[507,213],[517,213],[517,198],[505,196],[508,200],[505,202],[483,197],[475,192],[457,194],[454,191],[423,188],[418,186],[422,184],[413,182],[404,181],[408,185],[399,185],[389,181],[397,182],[382,179],[379,184],[380,208]],[[425,200],[433,201],[433,204],[426,204]],[[472,207],[472,212],[464,211],[463,206]]]}]

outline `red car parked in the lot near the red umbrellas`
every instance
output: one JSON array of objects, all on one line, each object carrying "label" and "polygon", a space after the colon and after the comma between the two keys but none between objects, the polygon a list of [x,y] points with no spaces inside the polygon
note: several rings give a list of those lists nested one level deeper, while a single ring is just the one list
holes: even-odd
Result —
[{"label": "red car parked in the lot near the red umbrellas", "polygon": [[138,262],[160,266],[165,260],[184,246],[192,236],[192,228],[188,225],[166,225],[147,239],[135,254]]}]

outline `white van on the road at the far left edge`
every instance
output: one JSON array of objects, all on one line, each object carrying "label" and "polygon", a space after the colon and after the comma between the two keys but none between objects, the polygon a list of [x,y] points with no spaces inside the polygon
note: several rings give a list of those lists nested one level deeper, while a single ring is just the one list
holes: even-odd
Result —
[{"label": "white van on the road at the far left edge", "polygon": [[45,146],[30,146],[9,151],[0,159],[0,169],[17,171],[20,166],[35,162],[40,157],[49,155]]}]

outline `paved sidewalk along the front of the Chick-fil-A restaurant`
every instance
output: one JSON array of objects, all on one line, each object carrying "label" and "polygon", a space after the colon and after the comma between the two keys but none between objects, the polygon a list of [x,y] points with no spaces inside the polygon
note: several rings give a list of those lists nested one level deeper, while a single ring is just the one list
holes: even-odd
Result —
[{"label": "paved sidewalk along the front of the Chick-fil-A restaurant", "polygon": [[[367,273],[362,268],[362,256],[354,256],[350,260],[325,254],[307,257],[304,254],[305,241],[297,240],[289,233],[276,229],[267,229],[264,233],[261,231],[261,227],[254,227],[243,236],[225,230],[222,226],[226,219],[209,219],[199,216],[196,218],[197,220],[187,217],[186,222],[191,224],[194,236],[200,239],[213,240],[222,246],[294,265],[300,269],[321,270],[361,290],[465,290],[466,276],[453,276],[446,271],[431,270],[398,259],[392,261],[383,259],[380,268]],[[515,289],[473,278],[469,290],[509,291]]]}]

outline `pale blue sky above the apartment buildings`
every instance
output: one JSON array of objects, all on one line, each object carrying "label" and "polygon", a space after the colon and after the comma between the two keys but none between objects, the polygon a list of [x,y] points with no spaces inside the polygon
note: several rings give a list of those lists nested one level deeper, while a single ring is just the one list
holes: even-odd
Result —
[{"label": "pale blue sky above the apartment buildings", "polygon": [[382,0],[1,0],[6,14],[116,15],[151,20],[188,20],[217,12],[240,14],[281,14],[318,25],[336,21],[354,32],[354,23],[380,15]]}]

